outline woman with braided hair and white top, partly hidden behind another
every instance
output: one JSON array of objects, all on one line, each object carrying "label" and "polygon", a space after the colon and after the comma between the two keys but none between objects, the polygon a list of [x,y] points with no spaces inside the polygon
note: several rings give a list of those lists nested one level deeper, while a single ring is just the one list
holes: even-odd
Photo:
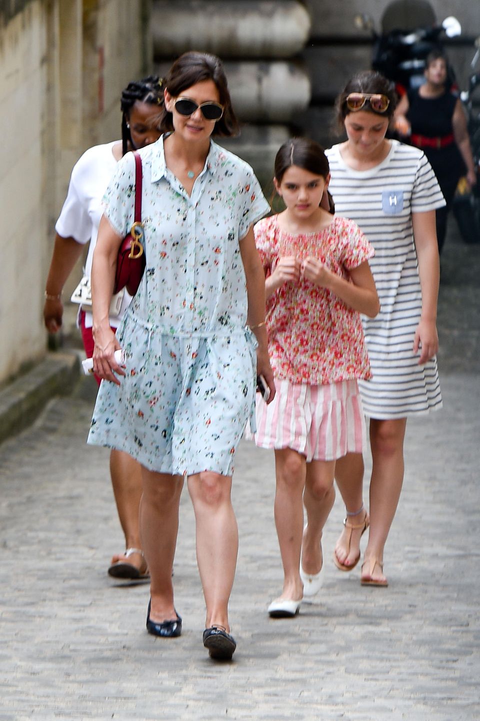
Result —
[{"label": "woman with braided hair and white top, partly hidden behind another", "polygon": [[[103,212],[101,198],[122,156],[129,150],[153,143],[160,136],[151,120],[158,115],[162,102],[163,90],[158,77],[149,76],[130,82],[124,88],[121,99],[122,140],[90,148],[73,167],[68,195],[55,224],[55,247],[45,290],[43,317],[50,333],[58,332],[62,325],[62,289],[86,243],[90,244],[83,270],[83,294],[86,292],[89,295],[91,262]],[[109,318],[113,329],[119,325],[131,297],[124,291],[118,301]],[[94,351],[91,325],[91,308],[84,304],[79,308],[78,326],[87,357],[91,357]],[[99,376],[96,380],[100,383]],[[115,578],[145,577],[148,575],[147,563],[142,554],[138,529],[142,494],[140,465],[126,453],[113,450],[110,454],[110,474],[126,551],[114,554],[109,574]]]}]

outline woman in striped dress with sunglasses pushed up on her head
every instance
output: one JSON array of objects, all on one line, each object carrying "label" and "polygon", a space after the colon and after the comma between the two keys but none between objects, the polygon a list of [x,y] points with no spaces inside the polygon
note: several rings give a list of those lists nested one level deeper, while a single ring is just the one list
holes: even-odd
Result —
[{"label": "woman in striped dress with sunglasses pushed up on her head", "polygon": [[[395,105],[394,89],[379,73],[353,77],[336,105],[347,140],[327,151],[335,210],[356,221],[375,249],[371,270],[381,310],[376,318],[363,317],[373,378],[359,386],[370,418],[373,460],[361,583],[376,586],[387,585],[384,546],[402,489],[407,417],[442,404],[435,358],[435,209],[445,201],[425,154],[386,138]],[[340,570],[350,571],[360,559],[361,534],[368,526],[361,454],[340,459],[335,478],[346,518],[334,560]]]}]

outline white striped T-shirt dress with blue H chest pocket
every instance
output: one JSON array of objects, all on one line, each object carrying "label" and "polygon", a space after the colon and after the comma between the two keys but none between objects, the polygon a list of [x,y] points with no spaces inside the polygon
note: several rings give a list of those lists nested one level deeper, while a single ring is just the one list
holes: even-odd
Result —
[{"label": "white striped T-shirt dress with blue H chest pocket", "polygon": [[412,213],[445,205],[435,174],[422,151],[398,141],[366,171],[348,167],[339,145],[327,156],[335,212],[356,221],[375,249],[370,265],[381,311],[362,317],[373,378],[358,383],[366,415],[386,420],[438,410],[437,359],[419,366],[420,353],[412,351],[422,311]]}]

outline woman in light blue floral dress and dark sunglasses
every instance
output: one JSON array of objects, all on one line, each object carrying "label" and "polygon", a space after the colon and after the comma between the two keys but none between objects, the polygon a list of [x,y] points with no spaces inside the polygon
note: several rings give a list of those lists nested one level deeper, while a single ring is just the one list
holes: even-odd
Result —
[{"label": "woman in light blue floral dress and dark sunglasses", "polygon": [[[171,570],[187,477],[207,604],[203,643],[212,658],[230,659],[235,448],[254,417],[257,373],[275,394],[265,278],[253,236],[269,206],[250,166],[211,139],[237,129],[219,59],[185,53],[173,63],[164,97],[163,135],[140,151],[147,265],[117,337],[107,308],[119,244],[133,220],[130,156],[104,197],[92,270],[94,370],[110,382],[101,384],[89,443],[121,448],[142,466],[147,629],[161,637],[181,634]],[[118,348],[124,366],[114,359]]]}]

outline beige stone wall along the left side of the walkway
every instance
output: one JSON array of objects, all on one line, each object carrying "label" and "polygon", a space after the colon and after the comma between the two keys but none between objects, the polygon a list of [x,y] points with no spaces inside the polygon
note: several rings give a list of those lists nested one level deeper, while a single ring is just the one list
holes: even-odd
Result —
[{"label": "beige stone wall along the left side of the walkway", "polygon": [[119,137],[119,93],[145,73],[147,37],[145,0],[0,5],[0,383],[45,353],[43,291],[71,168]]}]

